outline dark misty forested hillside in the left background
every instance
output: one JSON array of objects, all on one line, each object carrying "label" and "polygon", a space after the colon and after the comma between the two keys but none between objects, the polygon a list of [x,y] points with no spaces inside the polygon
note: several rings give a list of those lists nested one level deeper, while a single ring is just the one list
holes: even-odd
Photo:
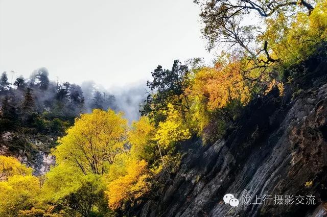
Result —
[{"label": "dark misty forested hillside in the left background", "polygon": [[0,77],[0,153],[33,166],[34,174],[49,170],[54,163],[50,149],[75,117],[94,108],[116,108],[112,94],[87,89],[85,99],[79,85],[50,81],[46,68],[35,70],[29,79],[14,80],[12,73]]}]

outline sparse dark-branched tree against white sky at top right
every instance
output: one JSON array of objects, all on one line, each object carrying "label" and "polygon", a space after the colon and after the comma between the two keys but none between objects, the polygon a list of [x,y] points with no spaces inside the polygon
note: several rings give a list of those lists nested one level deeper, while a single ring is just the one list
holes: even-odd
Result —
[{"label": "sparse dark-branched tree against white sky at top right", "polygon": [[[297,14],[308,12],[309,15],[316,3],[315,0],[195,0],[194,2],[201,5],[200,17],[204,24],[202,34],[208,41],[208,50],[220,45],[220,47],[225,46],[225,50],[233,55],[238,53],[244,59],[243,74],[257,74],[253,82],[267,77],[271,73],[267,68],[281,61],[272,52],[275,45],[271,40],[262,37],[270,26],[262,23],[267,24],[269,19],[273,19],[273,23],[278,23],[282,29],[290,27]],[[287,18],[283,21],[278,20],[277,17],[281,15]],[[250,21],[253,17],[258,18],[256,23]],[[282,29],[276,32],[284,37]]]}]

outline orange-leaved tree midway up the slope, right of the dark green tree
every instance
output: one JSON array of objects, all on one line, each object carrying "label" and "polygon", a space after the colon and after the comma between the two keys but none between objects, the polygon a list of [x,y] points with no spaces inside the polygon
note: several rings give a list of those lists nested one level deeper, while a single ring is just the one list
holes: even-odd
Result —
[{"label": "orange-leaved tree midway up the slope, right of the dark green tree", "polygon": [[[199,121],[199,129],[203,130],[208,123],[208,111],[219,111],[230,120],[232,116],[225,108],[232,102],[245,105],[251,98],[251,87],[243,74],[242,62],[236,58],[230,61],[218,61],[214,67],[203,67],[195,75],[191,88],[194,101],[193,119]],[[201,116],[202,115],[202,116]]]}]

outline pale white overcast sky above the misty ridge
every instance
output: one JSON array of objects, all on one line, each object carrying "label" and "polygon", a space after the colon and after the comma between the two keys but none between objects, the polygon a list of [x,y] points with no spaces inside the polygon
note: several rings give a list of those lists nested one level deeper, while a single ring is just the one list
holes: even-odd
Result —
[{"label": "pale white overcast sky above the misty ridge", "polygon": [[[0,0],[0,71],[108,88],[210,56],[192,0]],[[11,77],[9,76],[9,79]]]}]

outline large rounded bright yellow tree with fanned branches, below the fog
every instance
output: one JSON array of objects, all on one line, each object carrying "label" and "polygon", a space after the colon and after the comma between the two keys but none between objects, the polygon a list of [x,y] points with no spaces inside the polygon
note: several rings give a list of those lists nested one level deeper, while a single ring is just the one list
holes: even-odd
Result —
[{"label": "large rounded bright yellow tree with fanned branches, below the fog", "polygon": [[122,113],[95,109],[82,114],[67,135],[59,139],[53,154],[58,164],[73,165],[83,174],[104,174],[106,165],[124,151],[127,120]]}]

